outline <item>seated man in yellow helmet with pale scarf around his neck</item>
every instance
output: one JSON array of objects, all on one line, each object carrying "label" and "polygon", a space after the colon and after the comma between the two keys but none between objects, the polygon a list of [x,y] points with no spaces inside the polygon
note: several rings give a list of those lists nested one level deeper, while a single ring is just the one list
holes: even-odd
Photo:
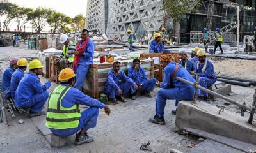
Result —
[{"label": "seated man in yellow helmet with pale scarf around his neck", "polygon": [[[198,62],[195,66],[195,74],[199,75],[199,85],[207,88],[210,85],[213,85],[216,82],[214,66],[211,61],[206,59],[205,51],[198,50],[197,54]],[[208,101],[208,93],[198,89],[198,98],[202,98],[205,101]]]}]

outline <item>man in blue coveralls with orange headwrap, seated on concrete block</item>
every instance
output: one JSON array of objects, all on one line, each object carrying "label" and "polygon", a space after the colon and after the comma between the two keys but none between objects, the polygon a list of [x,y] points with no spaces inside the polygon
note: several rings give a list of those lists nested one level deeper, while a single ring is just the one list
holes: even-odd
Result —
[{"label": "man in blue coveralls with orange headwrap, seated on concrete block", "polygon": [[194,95],[194,87],[180,82],[175,77],[180,77],[195,82],[193,77],[180,64],[173,61],[171,54],[163,54],[160,57],[161,65],[164,68],[164,80],[160,85],[156,98],[156,115],[149,118],[149,121],[156,124],[165,124],[164,108],[167,99],[176,101],[192,100]]}]

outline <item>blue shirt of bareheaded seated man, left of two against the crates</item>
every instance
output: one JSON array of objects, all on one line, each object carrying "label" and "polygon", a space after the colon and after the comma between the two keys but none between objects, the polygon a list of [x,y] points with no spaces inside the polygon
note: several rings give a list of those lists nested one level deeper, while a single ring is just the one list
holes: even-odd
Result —
[{"label": "blue shirt of bareheaded seated man, left of two against the crates", "polygon": [[108,71],[108,80],[105,85],[105,90],[108,89],[108,85],[111,85],[114,89],[118,89],[119,86],[122,85],[122,82],[128,82],[131,85],[135,85],[135,82],[131,78],[127,77],[124,71],[120,70],[116,76],[113,69],[110,69]]}]

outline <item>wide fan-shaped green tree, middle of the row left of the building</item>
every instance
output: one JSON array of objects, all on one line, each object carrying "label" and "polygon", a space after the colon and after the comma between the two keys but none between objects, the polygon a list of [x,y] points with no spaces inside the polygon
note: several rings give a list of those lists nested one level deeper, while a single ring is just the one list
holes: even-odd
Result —
[{"label": "wide fan-shaped green tree, middle of the row left of the building", "polygon": [[47,18],[51,16],[53,10],[51,8],[36,8],[29,12],[28,20],[35,27],[37,33],[40,33],[47,24]]}]

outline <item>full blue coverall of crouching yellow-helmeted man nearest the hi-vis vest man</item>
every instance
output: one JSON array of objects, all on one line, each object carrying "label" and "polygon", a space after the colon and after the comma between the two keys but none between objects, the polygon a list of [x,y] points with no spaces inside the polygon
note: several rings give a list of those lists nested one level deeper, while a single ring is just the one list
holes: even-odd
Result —
[{"label": "full blue coverall of crouching yellow-helmeted man nearest the hi-vis vest man", "polygon": [[20,80],[15,92],[15,105],[22,108],[31,108],[31,112],[41,112],[48,99],[49,92],[46,90],[51,82],[41,85],[38,76],[29,71]]}]

